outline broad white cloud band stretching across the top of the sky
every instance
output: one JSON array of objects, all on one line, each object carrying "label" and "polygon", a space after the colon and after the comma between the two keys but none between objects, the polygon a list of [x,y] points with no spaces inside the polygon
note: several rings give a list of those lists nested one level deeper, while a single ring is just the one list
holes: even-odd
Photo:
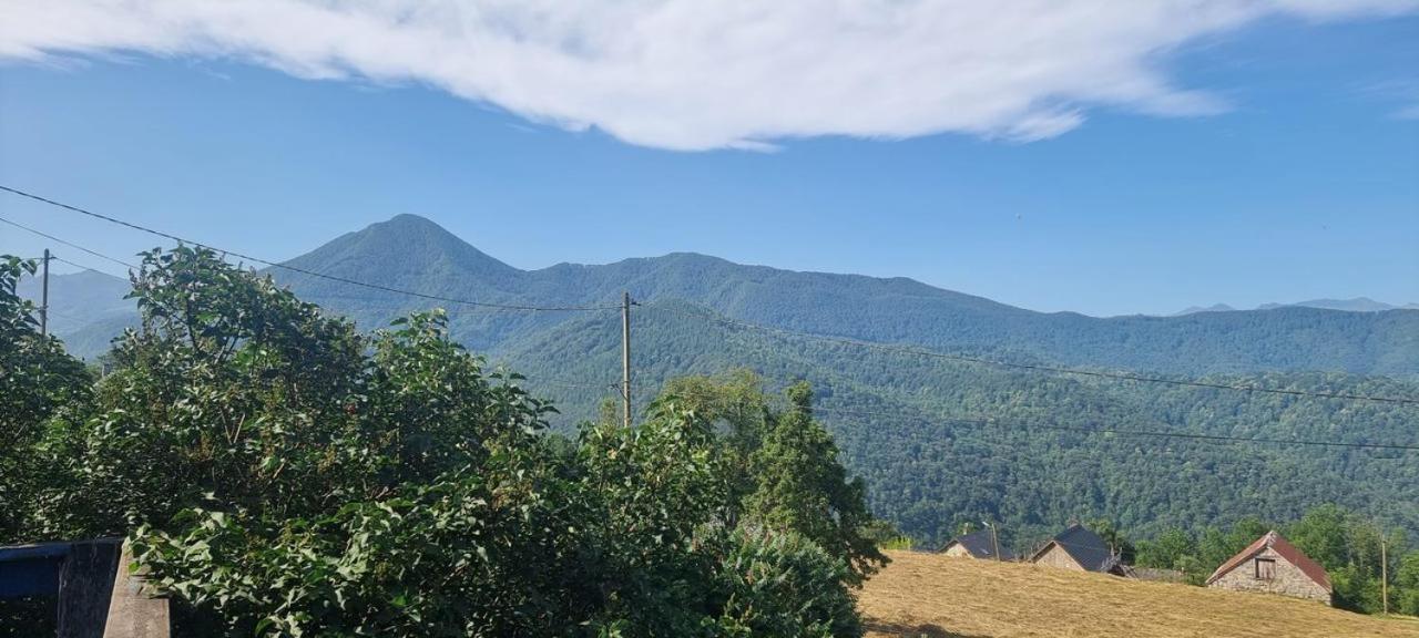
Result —
[{"label": "broad white cloud band stretching across the top of the sky", "polygon": [[817,135],[1051,138],[1090,108],[1226,105],[1166,54],[1264,17],[1419,0],[7,0],[0,58],[142,51],[423,82],[668,149]]}]

